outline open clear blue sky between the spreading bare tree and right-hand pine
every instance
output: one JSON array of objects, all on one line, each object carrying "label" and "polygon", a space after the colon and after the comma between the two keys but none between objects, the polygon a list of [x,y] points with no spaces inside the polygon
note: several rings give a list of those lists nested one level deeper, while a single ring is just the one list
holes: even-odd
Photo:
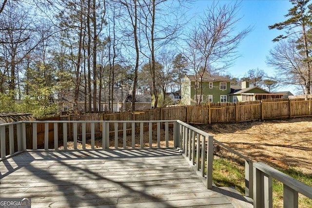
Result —
[{"label": "open clear blue sky between the spreading bare tree and right-hand pine", "polygon": [[[221,3],[231,3],[233,1],[221,0]],[[212,3],[212,0],[198,0],[193,5],[192,13],[201,13]],[[285,14],[292,7],[288,0],[243,0],[238,16],[241,21],[238,22],[238,28],[246,28],[249,25],[254,29],[241,42],[238,51],[241,55],[235,65],[230,67],[228,72],[234,77],[241,78],[244,74],[253,68],[263,69],[268,75],[274,74],[274,69],[266,64],[266,56],[274,44],[272,40],[283,34],[283,31],[276,29],[269,30],[268,26],[276,22],[284,21]],[[292,87],[283,87],[279,90],[291,90]]]}]

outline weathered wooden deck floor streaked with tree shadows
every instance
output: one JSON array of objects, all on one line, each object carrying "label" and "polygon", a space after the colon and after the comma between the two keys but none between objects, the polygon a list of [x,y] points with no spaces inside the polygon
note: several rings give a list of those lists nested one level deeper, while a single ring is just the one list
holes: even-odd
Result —
[{"label": "weathered wooden deck floor streaked with tree shadows", "polygon": [[252,207],[228,192],[207,189],[170,148],[26,151],[0,162],[0,197],[32,207]]}]

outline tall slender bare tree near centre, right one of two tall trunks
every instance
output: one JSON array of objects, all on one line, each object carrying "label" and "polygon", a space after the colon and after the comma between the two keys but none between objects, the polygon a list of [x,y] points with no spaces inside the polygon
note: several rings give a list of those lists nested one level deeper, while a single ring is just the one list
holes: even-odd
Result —
[{"label": "tall slender bare tree near centre, right one of two tall trunks", "polygon": [[[179,1],[176,1],[179,3]],[[158,92],[156,90],[156,57],[157,52],[164,46],[168,45],[176,39],[178,30],[182,27],[182,21],[178,14],[179,9],[175,6],[175,2],[166,0],[143,0],[141,5],[141,25],[143,25],[143,33],[146,37],[146,47],[148,50],[141,50],[141,53],[149,60],[151,76],[153,81],[153,94],[155,96],[154,107],[158,103]],[[174,17],[171,20],[166,17]]]}]

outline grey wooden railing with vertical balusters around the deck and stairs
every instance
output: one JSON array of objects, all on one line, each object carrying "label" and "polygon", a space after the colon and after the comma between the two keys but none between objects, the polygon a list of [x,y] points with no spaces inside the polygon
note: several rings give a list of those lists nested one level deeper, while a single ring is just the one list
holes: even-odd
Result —
[{"label": "grey wooden railing with vertical balusters around the deck and stairs", "polygon": [[[256,208],[272,207],[272,177],[284,184],[284,207],[289,205],[291,205],[290,207],[298,207],[298,192],[312,199],[312,187],[304,185],[270,166],[262,163],[253,163],[247,157],[244,157],[230,147],[216,141],[213,136],[207,132],[179,120],[22,121],[2,124],[0,125],[0,160],[4,160],[25,151],[27,149],[27,142],[32,143],[31,149],[38,149],[37,124],[44,124],[44,143],[42,147],[44,150],[51,149],[52,146],[53,149],[56,150],[59,149],[59,146],[63,146],[63,149],[66,150],[68,149],[68,138],[71,138],[73,141],[73,148],[78,149],[78,134],[80,135],[79,141],[81,140],[82,149],[88,149],[86,148],[87,125],[90,125],[91,127],[91,148],[89,149],[98,149],[95,148],[95,124],[97,123],[101,125],[100,139],[102,140],[102,149],[121,148],[119,146],[120,141],[122,141],[122,148],[159,148],[161,147],[160,131],[164,128],[165,138],[163,147],[179,148],[183,155],[188,158],[190,163],[194,165],[200,175],[206,178],[205,182],[207,188],[213,187],[213,152],[214,143],[217,143],[245,160],[245,195],[254,199],[254,207]],[[31,124],[30,126],[32,126],[30,134],[29,132],[26,134],[26,124]],[[49,129],[51,129],[52,125],[53,136],[49,133]],[[77,130],[78,125],[81,125],[81,132],[78,132]],[[114,131],[110,131],[112,126],[114,126]],[[172,136],[169,135],[169,126],[173,126],[173,135],[170,134]],[[72,135],[69,132],[71,132]],[[144,142],[144,132],[148,132],[147,144]],[[128,144],[130,145],[127,145],[127,135],[131,135],[131,141],[128,141]],[[139,142],[136,142],[136,139],[138,138]],[[156,144],[154,145],[153,138],[154,143],[156,141]],[[59,144],[59,141],[62,141],[62,144]],[[172,141],[172,146],[169,146],[169,141]],[[114,145],[110,146],[110,142],[113,142]],[[53,145],[51,145],[51,143]]]}]

